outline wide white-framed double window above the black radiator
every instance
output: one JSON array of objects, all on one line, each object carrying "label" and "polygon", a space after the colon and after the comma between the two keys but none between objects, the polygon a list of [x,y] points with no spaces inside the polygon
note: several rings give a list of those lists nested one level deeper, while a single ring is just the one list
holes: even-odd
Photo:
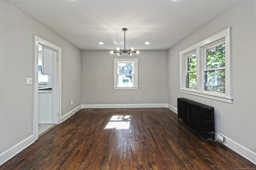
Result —
[{"label": "wide white-framed double window above the black radiator", "polygon": [[232,103],[230,28],[180,51],[180,91]]}]

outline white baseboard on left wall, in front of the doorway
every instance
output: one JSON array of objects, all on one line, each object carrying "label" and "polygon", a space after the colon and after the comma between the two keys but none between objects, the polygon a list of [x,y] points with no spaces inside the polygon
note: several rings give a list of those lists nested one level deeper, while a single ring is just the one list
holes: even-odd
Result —
[{"label": "white baseboard on left wall, in front of the doorway", "polygon": [[27,137],[26,139],[24,139],[20,143],[14,145],[10,149],[2,152],[0,154],[0,165],[4,164],[4,162],[6,162],[10,158],[12,158],[16,154],[18,154],[20,151],[22,151],[23,149],[25,149],[26,147],[28,147],[32,143],[34,143],[34,135],[31,135],[30,137]]}]

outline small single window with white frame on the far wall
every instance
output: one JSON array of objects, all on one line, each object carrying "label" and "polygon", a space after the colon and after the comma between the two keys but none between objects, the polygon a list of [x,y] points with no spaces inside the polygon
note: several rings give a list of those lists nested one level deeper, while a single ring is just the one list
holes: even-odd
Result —
[{"label": "small single window with white frame on the far wall", "polygon": [[114,59],[114,89],[138,89],[138,59]]}]

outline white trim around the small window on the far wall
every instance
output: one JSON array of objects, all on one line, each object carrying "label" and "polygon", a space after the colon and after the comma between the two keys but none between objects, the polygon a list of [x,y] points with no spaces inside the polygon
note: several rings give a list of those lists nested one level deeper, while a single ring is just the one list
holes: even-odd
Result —
[{"label": "white trim around the small window on the far wall", "polygon": [[[118,63],[119,62],[133,62],[134,76],[132,87],[118,87]],[[136,58],[114,58],[114,90],[137,90],[138,89],[138,59]]]}]

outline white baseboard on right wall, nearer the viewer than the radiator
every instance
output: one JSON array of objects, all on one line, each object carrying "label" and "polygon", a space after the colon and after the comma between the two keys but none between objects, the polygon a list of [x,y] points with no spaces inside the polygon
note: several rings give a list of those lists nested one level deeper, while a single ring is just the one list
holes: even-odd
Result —
[{"label": "white baseboard on right wall, nearer the viewer than the radiator", "polygon": [[224,137],[224,141],[222,142],[223,145],[226,145],[230,149],[234,150],[244,158],[250,160],[252,163],[256,164],[256,153],[253,152],[252,150],[240,145],[236,141],[233,141],[232,139],[226,137],[225,135],[222,135],[219,132],[215,133],[215,138],[217,139],[217,134],[221,135]]}]

